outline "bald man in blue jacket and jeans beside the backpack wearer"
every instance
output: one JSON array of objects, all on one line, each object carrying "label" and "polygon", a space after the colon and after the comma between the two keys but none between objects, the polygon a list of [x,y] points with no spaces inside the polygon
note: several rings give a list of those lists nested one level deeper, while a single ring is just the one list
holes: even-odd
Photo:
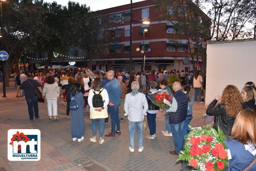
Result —
[{"label": "bald man in blue jacket and jeans beside the backpack wearer", "polygon": [[121,86],[119,81],[114,78],[115,73],[112,70],[108,71],[105,76],[108,78],[108,83],[104,86],[108,91],[109,97],[108,115],[111,115],[111,133],[105,135],[105,137],[116,137],[116,133],[121,135],[119,119],[119,105],[122,96]]}]

